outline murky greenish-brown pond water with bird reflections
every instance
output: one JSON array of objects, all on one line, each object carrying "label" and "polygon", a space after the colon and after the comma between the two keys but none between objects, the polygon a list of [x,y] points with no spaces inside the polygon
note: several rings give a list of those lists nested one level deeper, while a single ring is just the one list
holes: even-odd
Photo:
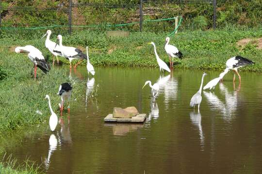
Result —
[{"label": "murky greenish-brown pond water with bird reflections", "polygon": [[[207,73],[204,85],[220,72]],[[88,79],[79,67],[72,75],[87,88],[77,91],[82,98],[71,104],[70,117],[65,113],[53,134],[48,124],[33,127],[7,153],[42,163],[48,174],[259,174],[262,76],[240,74],[241,85],[233,84],[229,72],[214,92],[204,91],[197,113],[189,102],[201,71],[174,70],[160,77],[158,69],[96,68]],[[160,85],[155,101],[148,86],[142,89],[147,80]],[[115,106],[135,106],[147,120],[104,123]]]}]

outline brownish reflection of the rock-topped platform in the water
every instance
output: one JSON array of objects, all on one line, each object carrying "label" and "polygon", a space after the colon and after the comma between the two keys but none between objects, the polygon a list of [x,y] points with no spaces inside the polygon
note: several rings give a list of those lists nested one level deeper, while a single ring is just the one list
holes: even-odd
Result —
[{"label": "brownish reflection of the rock-topped platform in the water", "polygon": [[143,128],[143,123],[106,123],[104,126],[113,127],[113,135],[123,136],[128,132],[136,131],[138,128]]}]

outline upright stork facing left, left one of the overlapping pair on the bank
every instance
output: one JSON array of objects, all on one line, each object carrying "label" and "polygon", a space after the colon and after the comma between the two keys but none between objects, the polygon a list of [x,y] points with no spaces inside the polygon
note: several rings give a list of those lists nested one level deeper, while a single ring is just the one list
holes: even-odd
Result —
[{"label": "upright stork facing left, left one of the overlapping pair on the bank", "polygon": [[[50,40],[50,35],[51,35],[52,31],[51,30],[47,30],[47,33],[43,35],[42,38],[44,38],[45,36],[47,36],[47,39],[46,39],[46,47],[47,49],[53,54],[53,66],[54,66],[54,61],[55,61],[55,58],[54,56],[56,57],[57,59],[57,64],[59,63],[59,60],[57,58],[57,56],[63,56],[61,51],[60,51],[60,46],[59,45],[56,45],[55,42],[52,42]],[[42,39],[41,38],[41,39]]]}]

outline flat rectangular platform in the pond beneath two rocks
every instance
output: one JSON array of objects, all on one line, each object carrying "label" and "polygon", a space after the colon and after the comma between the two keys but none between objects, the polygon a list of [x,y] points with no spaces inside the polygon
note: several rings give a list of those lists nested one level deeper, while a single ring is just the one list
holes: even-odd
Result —
[{"label": "flat rectangular platform in the pond beneath two rocks", "polygon": [[114,118],[113,114],[109,114],[104,118],[105,122],[144,122],[146,119],[146,114],[138,114],[137,116],[132,116],[132,118]]}]

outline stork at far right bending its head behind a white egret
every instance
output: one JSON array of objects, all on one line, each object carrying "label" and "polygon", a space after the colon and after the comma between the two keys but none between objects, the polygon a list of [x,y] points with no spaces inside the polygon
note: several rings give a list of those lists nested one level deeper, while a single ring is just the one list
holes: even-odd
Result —
[{"label": "stork at far right bending its head behind a white egret", "polygon": [[240,77],[237,69],[241,68],[243,66],[246,66],[246,65],[251,65],[253,63],[254,63],[253,61],[251,61],[247,58],[243,58],[241,56],[235,56],[233,58],[228,59],[228,61],[226,62],[226,68],[234,71],[233,81],[235,81],[235,74],[237,74],[238,78],[239,78],[239,82],[241,82],[241,77]]}]

